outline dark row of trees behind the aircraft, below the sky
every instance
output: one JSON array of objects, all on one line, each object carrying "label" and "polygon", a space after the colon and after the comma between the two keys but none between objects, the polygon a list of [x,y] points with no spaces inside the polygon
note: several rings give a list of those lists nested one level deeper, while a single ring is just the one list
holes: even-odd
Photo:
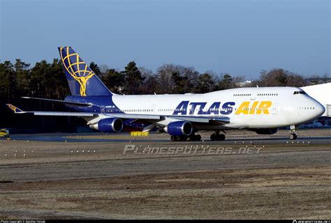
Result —
[{"label": "dark row of trees behind the aircraft, below the sky", "polygon": [[[281,68],[262,70],[259,79],[251,83],[244,82],[245,77],[234,77],[228,73],[215,73],[212,71],[198,72],[193,67],[175,64],[164,64],[156,72],[144,67],[138,67],[135,61],[127,64],[124,70],[116,70],[107,66],[99,67],[96,63],[90,63],[91,70],[114,93],[120,94],[162,94],[162,93],[207,93],[224,89],[233,89],[241,86],[305,86],[311,82],[321,84],[330,80],[328,75],[318,77],[313,75],[309,79],[294,72]],[[0,62],[0,112],[1,125],[8,123],[17,124],[24,119],[8,114],[6,103],[22,106],[24,109],[66,109],[61,105],[53,105],[47,102],[22,100],[22,96],[37,98],[52,98],[64,100],[70,91],[61,61],[54,59],[52,63],[43,60],[33,67],[20,59],[15,62]],[[41,121],[42,120],[42,121]],[[46,121],[57,122],[57,118],[49,118]],[[73,118],[63,118],[64,125]],[[36,121],[36,120],[35,120]],[[38,122],[42,124],[38,125]],[[75,122],[75,121],[74,121]],[[60,122],[61,123],[61,122]],[[35,128],[45,128],[45,118],[40,118]],[[36,127],[36,125],[38,125]]]}]

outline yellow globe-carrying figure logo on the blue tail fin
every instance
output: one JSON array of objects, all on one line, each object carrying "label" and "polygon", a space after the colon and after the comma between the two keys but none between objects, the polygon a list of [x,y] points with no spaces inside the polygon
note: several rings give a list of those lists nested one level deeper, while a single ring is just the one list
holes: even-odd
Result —
[{"label": "yellow globe-carrying figure logo on the blue tail fin", "polygon": [[66,72],[80,84],[80,95],[86,96],[87,81],[94,76],[94,72],[80,59],[80,56],[70,47],[60,47],[60,56]]}]

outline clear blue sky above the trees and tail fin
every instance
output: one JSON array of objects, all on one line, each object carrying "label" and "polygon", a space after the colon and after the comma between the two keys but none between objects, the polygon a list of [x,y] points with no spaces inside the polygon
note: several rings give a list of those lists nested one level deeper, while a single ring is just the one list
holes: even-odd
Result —
[{"label": "clear blue sky above the trees and tail fin", "polygon": [[0,60],[82,59],[156,72],[164,63],[256,79],[284,68],[330,77],[330,0],[0,0]]}]

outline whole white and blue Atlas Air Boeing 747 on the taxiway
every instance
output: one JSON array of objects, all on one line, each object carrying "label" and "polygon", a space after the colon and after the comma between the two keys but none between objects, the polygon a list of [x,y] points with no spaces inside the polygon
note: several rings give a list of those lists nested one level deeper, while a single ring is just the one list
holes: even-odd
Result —
[{"label": "whole white and blue Atlas Air Boeing 747 on the taxiway", "polygon": [[[59,47],[71,95],[64,103],[77,112],[24,112],[8,105],[16,114],[36,116],[78,116],[90,128],[101,132],[122,132],[124,126],[140,126],[142,132],[158,128],[172,141],[200,141],[201,130],[214,133],[210,139],[226,139],[226,130],[246,129],[258,134],[274,134],[290,126],[307,123],[325,112],[319,102],[295,87],[228,89],[203,94],[117,95],[108,90],[72,47]],[[29,97],[24,97],[29,98]]]}]

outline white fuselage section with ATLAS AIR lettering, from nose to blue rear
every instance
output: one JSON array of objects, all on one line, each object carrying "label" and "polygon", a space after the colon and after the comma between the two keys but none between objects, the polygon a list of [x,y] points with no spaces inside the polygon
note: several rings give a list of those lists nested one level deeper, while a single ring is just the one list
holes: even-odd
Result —
[{"label": "white fuselage section with ATLAS AIR lettering, from nose to blue rear", "polygon": [[[184,95],[113,95],[112,100],[126,114],[230,118],[225,125],[196,126],[201,130],[278,128],[305,123],[324,112],[319,102],[295,87],[240,88]],[[172,121],[176,118],[165,118],[159,123],[167,125]]]}]

